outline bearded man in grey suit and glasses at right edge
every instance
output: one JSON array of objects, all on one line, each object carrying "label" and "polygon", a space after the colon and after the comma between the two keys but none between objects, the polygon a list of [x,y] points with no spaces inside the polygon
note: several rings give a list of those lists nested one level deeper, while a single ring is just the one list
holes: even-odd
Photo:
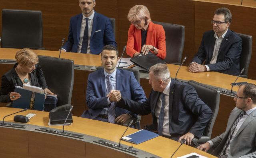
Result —
[{"label": "bearded man in grey suit and glasses at right edge", "polygon": [[220,158],[256,157],[256,85],[240,86],[234,98],[236,107],[230,113],[226,131],[198,146]]}]

